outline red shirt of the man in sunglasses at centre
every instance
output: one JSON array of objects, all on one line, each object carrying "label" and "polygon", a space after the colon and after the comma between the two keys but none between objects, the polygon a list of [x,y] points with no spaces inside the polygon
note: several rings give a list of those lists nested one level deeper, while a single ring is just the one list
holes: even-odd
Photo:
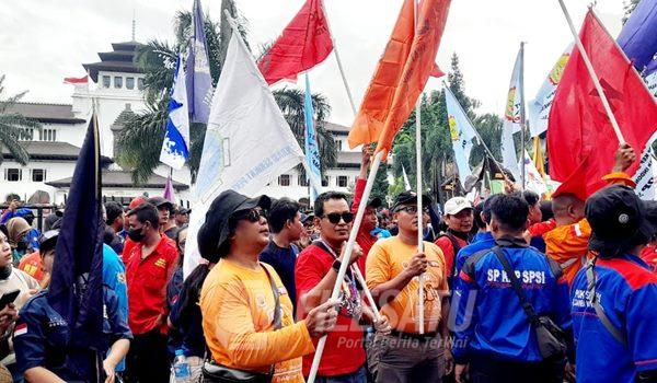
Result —
[{"label": "red shirt of the man in sunglasses at centre", "polygon": [[[327,272],[335,258],[315,245],[310,245],[299,254],[295,269],[297,282],[297,297],[314,288]],[[331,294],[331,291],[326,291]],[[297,305],[297,313],[302,320],[307,313]],[[316,340],[313,344],[316,347]],[[314,352],[303,357],[303,375],[308,376]],[[322,362],[318,374],[320,376],[335,376],[356,372],[365,364],[365,350],[362,348],[362,328],[358,321],[344,314],[344,310],[337,315],[335,329],[328,333],[326,346],[322,355]]]}]

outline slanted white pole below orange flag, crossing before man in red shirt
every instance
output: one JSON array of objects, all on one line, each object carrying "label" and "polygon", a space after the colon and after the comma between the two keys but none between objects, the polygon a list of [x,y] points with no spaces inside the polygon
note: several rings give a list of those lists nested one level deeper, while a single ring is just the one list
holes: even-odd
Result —
[{"label": "slanted white pole below orange flag, crossing before man in red shirt", "polygon": [[[372,162],[372,166],[370,169],[370,174],[367,177],[367,183],[365,184],[365,190],[362,192],[361,201],[367,201],[372,192],[372,186],[374,186],[374,178],[377,177],[377,172],[379,171],[379,165],[381,165],[381,160],[383,158],[383,151],[377,152],[374,154],[374,161]],[[365,216],[365,208],[367,207],[367,202],[360,204],[358,206],[358,211],[356,212],[356,218],[354,220],[354,225],[351,227],[351,232],[349,233],[349,240],[347,241],[347,246],[345,248],[345,254],[343,262],[339,265],[339,270],[337,271],[337,277],[335,279],[335,285],[333,286],[333,291],[331,292],[331,299],[335,300],[338,297],[339,289],[342,287],[342,281],[347,274],[347,267],[349,266],[349,259],[351,259],[351,253],[354,252],[354,244],[356,243],[356,235],[358,234],[358,230],[360,230],[360,223],[362,222],[362,217]],[[369,299],[369,297],[368,297]],[[310,368],[310,374],[308,375],[308,383],[314,383],[314,380],[318,375],[318,370],[320,369],[320,362],[322,361],[322,353],[324,352],[324,346],[326,345],[326,335],[320,338],[318,343],[318,347],[315,348],[315,355],[312,360],[312,367]]]}]

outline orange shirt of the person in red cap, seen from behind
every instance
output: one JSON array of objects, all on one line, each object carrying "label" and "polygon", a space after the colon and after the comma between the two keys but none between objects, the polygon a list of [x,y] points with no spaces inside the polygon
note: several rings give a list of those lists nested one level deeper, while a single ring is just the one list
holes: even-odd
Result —
[{"label": "orange shirt of the person in red cap, seen from behind", "polygon": [[577,223],[555,228],[543,235],[545,253],[561,266],[568,285],[573,283],[575,275],[587,259],[590,236],[591,225],[586,218]]}]

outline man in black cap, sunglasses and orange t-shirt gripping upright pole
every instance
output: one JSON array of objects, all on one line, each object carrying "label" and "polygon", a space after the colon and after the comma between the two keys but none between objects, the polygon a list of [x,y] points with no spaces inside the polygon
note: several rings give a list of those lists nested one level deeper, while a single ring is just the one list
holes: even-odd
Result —
[{"label": "man in black cap, sunglasses and orange t-shirt gripping upright pole", "polygon": [[[423,196],[423,206],[431,200]],[[426,208],[425,208],[426,209]],[[400,194],[391,209],[399,234],[378,241],[367,258],[367,285],[392,325],[378,334],[377,382],[439,382],[451,370],[448,286],[440,248],[424,242],[418,252],[417,194]],[[423,213],[424,216],[424,213]],[[419,328],[419,277],[424,280],[424,334]]]}]

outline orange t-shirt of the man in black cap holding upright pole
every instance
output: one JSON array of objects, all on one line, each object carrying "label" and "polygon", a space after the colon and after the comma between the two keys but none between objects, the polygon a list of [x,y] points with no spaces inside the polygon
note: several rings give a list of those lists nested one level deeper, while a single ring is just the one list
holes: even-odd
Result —
[{"label": "orange t-shirt of the man in black cap holding upright pole", "polygon": [[[417,253],[417,246],[408,245],[399,236],[392,236],[374,243],[367,257],[367,287],[370,289],[388,282],[399,276]],[[425,330],[436,332],[441,320],[441,298],[448,291],[445,257],[440,248],[424,243],[424,253],[429,267],[424,277]],[[388,317],[390,325],[399,332],[418,334],[419,279],[413,278],[395,299],[381,307],[381,314]]]}]

